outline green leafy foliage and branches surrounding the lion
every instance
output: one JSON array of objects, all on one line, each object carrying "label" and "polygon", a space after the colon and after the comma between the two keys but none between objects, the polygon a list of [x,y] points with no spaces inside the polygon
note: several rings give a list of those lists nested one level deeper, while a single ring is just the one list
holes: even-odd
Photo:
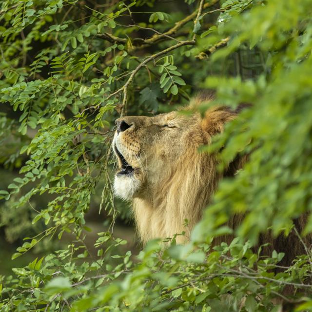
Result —
[{"label": "green leafy foliage and branches surrounding the lion", "polygon": [[[278,267],[283,254],[252,249],[268,229],[288,235],[302,214],[301,235],[312,232],[311,1],[0,4],[0,162],[19,169],[0,191],[0,225],[32,222],[12,259],[44,252],[0,277],[1,311],[278,311],[276,299],[312,310],[311,246],[288,268]],[[224,146],[220,164],[250,153],[248,164],[220,183],[189,244],[152,241],[133,256],[101,232],[94,254],[85,215],[96,190],[112,227],[118,214],[114,119],[166,112],[198,86],[216,89],[219,103],[253,103],[203,147]],[[212,247],[237,213],[237,237]],[[66,233],[74,241],[47,254],[44,242]]]}]

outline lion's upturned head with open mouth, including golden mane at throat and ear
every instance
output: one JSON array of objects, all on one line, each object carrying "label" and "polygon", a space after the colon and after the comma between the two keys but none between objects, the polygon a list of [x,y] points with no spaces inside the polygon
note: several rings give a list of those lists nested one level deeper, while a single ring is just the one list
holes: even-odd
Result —
[{"label": "lion's upturned head with open mouth, including golden mane at throat and ear", "polygon": [[[202,100],[207,99],[195,98],[190,107]],[[209,143],[234,116],[228,108],[215,107],[205,117],[171,112],[116,120],[113,149],[119,171],[114,189],[119,197],[133,200],[143,242],[183,231],[188,236],[219,178],[215,156],[199,153],[198,147]]]}]

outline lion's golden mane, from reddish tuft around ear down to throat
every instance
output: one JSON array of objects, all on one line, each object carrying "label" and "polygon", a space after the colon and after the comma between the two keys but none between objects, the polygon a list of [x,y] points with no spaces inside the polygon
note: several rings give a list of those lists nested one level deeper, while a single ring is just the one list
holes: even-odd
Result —
[{"label": "lion's golden mane, from reddish tuft around ear down to throat", "polygon": [[[189,108],[198,106],[204,100],[207,98],[203,95],[197,96]],[[198,124],[200,129],[185,138],[185,153],[173,167],[171,164],[170,175],[150,194],[150,204],[140,198],[134,199],[137,230],[143,243],[151,238],[172,237],[182,232],[185,234],[177,236],[177,242],[189,239],[221,176],[217,171],[216,157],[198,152],[198,142],[209,143],[215,134],[223,131],[224,124],[235,116],[236,112],[226,107],[208,110]],[[175,142],[172,142],[172,148],[175,148]]]}]

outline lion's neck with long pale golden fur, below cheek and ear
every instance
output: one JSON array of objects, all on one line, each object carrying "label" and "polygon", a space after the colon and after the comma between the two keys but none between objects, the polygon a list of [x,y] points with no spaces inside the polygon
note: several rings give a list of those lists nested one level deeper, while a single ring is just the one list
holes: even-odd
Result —
[{"label": "lion's neck with long pale golden fur, below cheek and ear", "polygon": [[[180,165],[170,178],[151,192],[150,198],[135,198],[133,204],[138,234],[143,243],[154,238],[172,237],[177,242],[188,240],[194,225],[215,190],[213,159],[195,154],[192,165]],[[198,159],[200,158],[200,159]],[[188,159],[190,160],[190,159]],[[194,164],[198,164],[194,168]],[[203,168],[203,166],[205,168]],[[185,220],[187,219],[187,224]]]}]

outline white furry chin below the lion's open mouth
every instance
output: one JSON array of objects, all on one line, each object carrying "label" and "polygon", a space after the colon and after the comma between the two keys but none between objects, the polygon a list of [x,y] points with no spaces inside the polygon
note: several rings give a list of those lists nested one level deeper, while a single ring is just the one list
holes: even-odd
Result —
[{"label": "white furry chin below the lion's open mouth", "polygon": [[141,181],[135,175],[117,174],[114,180],[114,193],[124,200],[131,200],[141,188]]}]

